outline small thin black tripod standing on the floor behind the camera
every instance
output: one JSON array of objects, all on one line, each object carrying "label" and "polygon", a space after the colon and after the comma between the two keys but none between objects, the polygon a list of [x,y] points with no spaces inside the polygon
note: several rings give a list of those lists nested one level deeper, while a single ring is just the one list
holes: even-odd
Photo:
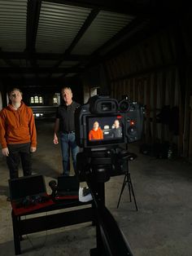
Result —
[{"label": "small thin black tripod standing on the floor behind the camera", "polygon": [[[126,157],[127,170],[125,171],[125,174],[124,174],[124,182],[123,182],[123,185],[122,185],[122,188],[121,188],[121,191],[120,191],[120,197],[122,196],[122,193],[124,192],[124,188],[125,188],[126,183],[128,183],[130,202],[132,201],[132,197],[131,197],[131,194],[132,194],[136,210],[138,210],[137,202],[136,202],[134,191],[133,191],[133,184],[132,184],[132,181],[131,181],[131,174],[129,173],[129,161],[134,160],[136,157],[137,156],[135,154],[131,153],[131,152],[129,152],[128,156]],[[119,201],[117,203],[117,208],[120,205],[120,197],[119,197]]]}]

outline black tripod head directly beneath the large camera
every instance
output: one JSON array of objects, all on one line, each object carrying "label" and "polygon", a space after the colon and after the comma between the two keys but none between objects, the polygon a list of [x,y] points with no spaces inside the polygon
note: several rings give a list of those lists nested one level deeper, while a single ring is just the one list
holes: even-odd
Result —
[{"label": "black tripod head directly beneath the large camera", "polygon": [[110,177],[124,174],[127,161],[132,161],[136,154],[120,147],[87,149],[76,156],[76,174],[81,182],[93,179],[94,182],[105,183]]}]

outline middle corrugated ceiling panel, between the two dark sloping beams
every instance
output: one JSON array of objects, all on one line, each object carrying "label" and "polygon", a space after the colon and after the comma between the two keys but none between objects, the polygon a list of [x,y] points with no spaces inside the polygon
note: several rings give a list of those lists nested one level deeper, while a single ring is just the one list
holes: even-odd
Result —
[{"label": "middle corrugated ceiling panel, between the two dark sloping beams", "polygon": [[37,31],[37,52],[66,51],[90,11],[81,7],[42,2]]}]

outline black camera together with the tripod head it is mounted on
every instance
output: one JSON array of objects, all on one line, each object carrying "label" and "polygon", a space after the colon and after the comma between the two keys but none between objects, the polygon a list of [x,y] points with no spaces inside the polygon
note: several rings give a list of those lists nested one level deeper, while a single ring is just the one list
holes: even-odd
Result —
[{"label": "black camera together with the tripod head it is mounted on", "polygon": [[142,137],[143,108],[128,97],[119,102],[108,96],[89,98],[76,109],[76,174],[80,181],[89,176],[94,182],[106,182],[124,174],[129,153],[122,144]]}]

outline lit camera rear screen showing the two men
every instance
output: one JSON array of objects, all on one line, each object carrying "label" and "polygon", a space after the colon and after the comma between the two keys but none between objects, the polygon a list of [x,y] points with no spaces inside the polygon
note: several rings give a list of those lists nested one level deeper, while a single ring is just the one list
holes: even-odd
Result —
[{"label": "lit camera rear screen showing the two men", "polygon": [[121,114],[107,117],[86,117],[87,145],[111,145],[124,143],[124,121]]}]

